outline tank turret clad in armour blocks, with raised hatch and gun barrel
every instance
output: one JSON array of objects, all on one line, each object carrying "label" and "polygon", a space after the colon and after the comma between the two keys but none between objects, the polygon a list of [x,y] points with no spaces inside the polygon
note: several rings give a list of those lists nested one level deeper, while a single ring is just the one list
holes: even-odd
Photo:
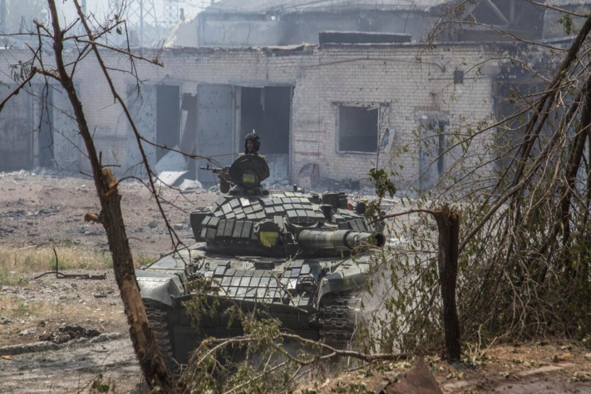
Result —
[{"label": "tank turret clad in armour blocks, with raised hatch and gun barrel", "polygon": [[212,252],[284,258],[340,256],[384,246],[384,235],[360,213],[363,203],[350,210],[343,193],[311,194],[297,187],[269,196],[261,185],[268,176],[261,156],[236,159],[223,175],[231,186],[228,194],[215,206],[191,213],[195,239]]}]

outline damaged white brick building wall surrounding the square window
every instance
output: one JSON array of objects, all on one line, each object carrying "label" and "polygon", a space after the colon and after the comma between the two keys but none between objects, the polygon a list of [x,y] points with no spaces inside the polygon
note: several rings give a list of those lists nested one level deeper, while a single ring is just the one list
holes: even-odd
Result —
[{"label": "damaged white brick building wall surrounding the square window", "polygon": [[[465,127],[493,112],[492,77],[476,76],[470,65],[492,57],[484,45],[441,44],[421,53],[415,45],[341,45],[340,47],[306,47],[300,51],[270,51],[259,48],[170,48],[159,57],[164,67],[135,61],[139,78],[146,84],[178,83],[182,93],[196,93],[198,84],[290,84],[294,86],[291,119],[291,177],[303,165],[319,164],[320,175],[335,179],[360,179],[378,161],[376,154],[337,152],[335,102],[390,103],[389,127],[394,129],[394,142],[388,152],[381,152],[379,164],[388,161],[404,165],[398,183],[413,183],[417,175],[415,144],[408,153],[394,155],[398,148],[413,142],[413,133],[423,115],[446,118],[451,125]],[[131,71],[128,58],[102,50],[109,67]],[[144,49],[150,58],[154,50]],[[14,58],[25,52],[12,53]],[[8,70],[8,58],[1,57],[0,67]],[[453,72],[466,71],[463,84],[453,83]],[[492,70],[492,71],[491,71]],[[127,85],[135,83],[129,72],[112,71],[111,76],[120,95]],[[128,133],[128,124],[116,105],[93,56],[78,66],[76,81],[91,129],[101,133],[103,146],[121,144]],[[462,116],[465,121],[462,121]],[[112,141],[109,142],[109,136]],[[135,143],[128,141],[128,143]],[[476,146],[476,145],[473,145]],[[264,153],[264,152],[263,152]],[[103,162],[115,162],[125,170],[125,149],[103,152]],[[394,155],[394,157],[392,157]],[[83,165],[84,167],[84,165]]]}]

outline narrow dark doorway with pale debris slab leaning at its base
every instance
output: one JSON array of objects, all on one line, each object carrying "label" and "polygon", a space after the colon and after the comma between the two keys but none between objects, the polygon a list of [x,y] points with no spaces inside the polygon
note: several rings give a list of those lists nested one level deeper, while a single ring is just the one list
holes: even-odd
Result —
[{"label": "narrow dark doorway with pale debris slab leaning at its base", "polygon": [[[178,145],[180,128],[180,87],[178,85],[156,86],[156,144],[174,148]],[[160,160],[166,149],[156,149]]]}]

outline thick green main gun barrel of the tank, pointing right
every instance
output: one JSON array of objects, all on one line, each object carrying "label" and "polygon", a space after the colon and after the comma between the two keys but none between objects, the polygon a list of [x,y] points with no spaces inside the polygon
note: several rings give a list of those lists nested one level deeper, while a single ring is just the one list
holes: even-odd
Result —
[{"label": "thick green main gun barrel of the tank, pointing right", "polygon": [[381,248],[386,244],[386,237],[379,232],[301,230],[297,242],[309,249],[355,249],[368,245]]}]

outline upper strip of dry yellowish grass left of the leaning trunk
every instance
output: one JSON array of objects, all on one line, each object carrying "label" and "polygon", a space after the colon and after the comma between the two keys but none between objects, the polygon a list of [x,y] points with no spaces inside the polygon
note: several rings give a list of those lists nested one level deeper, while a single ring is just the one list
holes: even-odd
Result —
[{"label": "upper strip of dry yellowish grass left of the leaning trunk", "polygon": [[109,253],[101,250],[85,250],[73,243],[65,242],[54,246],[29,246],[15,248],[0,245],[0,286],[23,284],[23,275],[45,272],[56,268],[57,253],[59,269],[102,269],[111,268],[113,262]]}]

